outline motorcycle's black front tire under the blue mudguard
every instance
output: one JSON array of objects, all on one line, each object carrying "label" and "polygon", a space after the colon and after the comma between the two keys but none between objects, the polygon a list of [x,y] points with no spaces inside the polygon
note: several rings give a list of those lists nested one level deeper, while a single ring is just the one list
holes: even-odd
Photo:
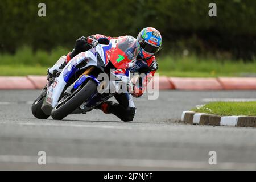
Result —
[{"label": "motorcycle's black front tire under the blue mudguard", "polygon": [[89,80],[80,90],[74,94],[67,101],[60,104],[60,102],[52,109],[52,118],[61,120],[67,115],[76,110],[82,103],[84,103],[93,93],[97,92],[97,84],[93,80]]}]

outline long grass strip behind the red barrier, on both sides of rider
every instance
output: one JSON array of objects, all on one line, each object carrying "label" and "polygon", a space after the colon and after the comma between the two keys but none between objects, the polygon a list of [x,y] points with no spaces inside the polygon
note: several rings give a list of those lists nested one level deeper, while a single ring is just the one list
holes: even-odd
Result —
[{"label": "long grass strip behind the red barrier, on both sides of rider", "polygon": [[[51,67],[62,55],[70,50],[56,48],[51,52],[35,51],[30,47],[20,48],[14,55],[0,54],[0,75],[46,75]],[[160,75],[177,77],[218,77],[256,75],[256,60],[245,63],[243,61],[216,60],[189,56],[156,56]]]}]

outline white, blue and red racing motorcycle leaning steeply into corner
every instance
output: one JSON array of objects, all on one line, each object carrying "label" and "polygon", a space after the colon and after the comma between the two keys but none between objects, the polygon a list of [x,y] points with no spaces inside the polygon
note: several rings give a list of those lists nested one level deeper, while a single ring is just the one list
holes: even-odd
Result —
[{"label": "white, blue and red racing motorcycle leaning steeply into corner", "polygon": [[[51,116],[61,120],[69,114],[91,111],[119,92],[123,85],[129,85],[130,69],[135,65],[138,52],[137,39],[124,36],[79,53],[59,76],[48,80],[32,104],[32,114],[38,119]],[[108,80],[98,79],[101,74],[107,75]],[[113,85],[114,92],[110,91]]]}]

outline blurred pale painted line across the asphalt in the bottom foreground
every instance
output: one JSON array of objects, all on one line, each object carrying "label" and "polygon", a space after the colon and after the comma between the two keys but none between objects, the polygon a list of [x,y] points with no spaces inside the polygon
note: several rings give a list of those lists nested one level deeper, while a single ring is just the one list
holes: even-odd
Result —
[{"label": "blurred pale painted line across the asphalt in the bottom foreground", "polygon": [[[0,155],[0,163],[35,163],[38,156]],[[123,167],[154,167],[175,169],[207,169],[215,167],[218,170],[255,170],[256,163],[218,162],[216,166],[210,166],[207,162],[187,160],[151,160],[151,159],[113,159],[113,158],[69,158],[47,156],[47,164],[73,164],[91,166],[123,166]]]}]

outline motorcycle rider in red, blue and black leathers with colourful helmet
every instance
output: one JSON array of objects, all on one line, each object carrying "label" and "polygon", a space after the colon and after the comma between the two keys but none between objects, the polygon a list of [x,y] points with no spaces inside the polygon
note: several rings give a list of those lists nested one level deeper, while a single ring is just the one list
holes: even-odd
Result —
[{"label": "motorcycle rider in red, blue and black leathers with colourful helmet", "polygon": [[[116,38],[100,34],[92,35],[88,38],[82,36],[76,40],[75,48],[72,52],[68,53],[63,64],[60,66],[56,65],[48,69],[48,76],[56,77],[57,73],[59,73],[65,67],[65,65],[67,65],[68,61],[70,61],[80,52],[85,52],[92,48],[90,44],[93,46],[96,46],[97,44],[109,44],[109,40],[111,39]],[[162,46],[162,36],[159,31],[151,27],[143,28],[143,30],[139,32],[137,40],[141,48],[139,55],[137,56],[136,64],[134,68],[131,69],[131,72],[140,74],[144,73],[144,77],[142,77],[142,80],[137,81],[137,83],[134,85],[133,93],[115,94],[114,97],[118,103],[105,101],[98,108],[101,109],[105,114],[112,113],[116,115],[122,121],[133,121],[136,113],[136,107],[131,95],[133,97],[141,97],[148,82],[150,82],[151,78],[158,69],[158,63],[155,60],[155,53],[158,52]]]}]

